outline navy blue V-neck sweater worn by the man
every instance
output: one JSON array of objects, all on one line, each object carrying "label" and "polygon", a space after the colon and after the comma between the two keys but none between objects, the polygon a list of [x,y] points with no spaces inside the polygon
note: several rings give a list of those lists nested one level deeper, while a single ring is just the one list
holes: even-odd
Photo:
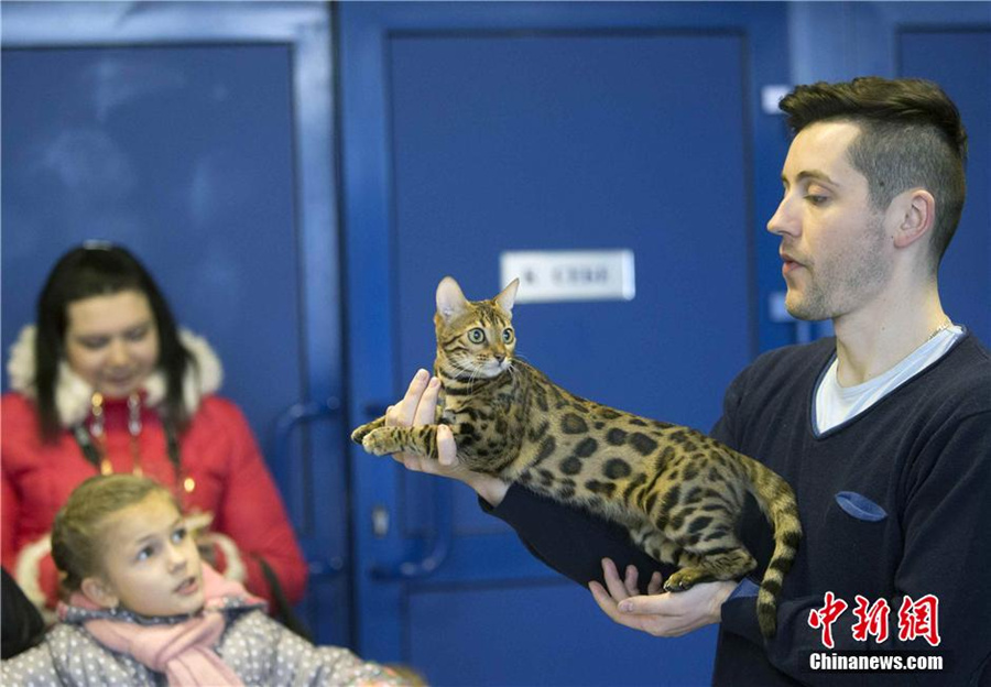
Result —
[{"label": "navy blue V-neck sweater worn by the man", "polygon": [[[715,685],[982,685],[991,683],[991,355],[967,335],[930,366],[853,419],[823,435],[813,426],[816,384],[834,339],[761,356],[730,385],[712,436],[753,456],[794,488],[804,538],[785,578],[778,631],[760,635],[755,597],[722,607]],[[513,486],[497,509],[544,563],[582,586],[601,580],[599,560],[658,566],[625,532]],[[740,524],[761,566],[770,527],[752,501]],[[622,567],[620,568],[622,569]],[[759,567],[753,579],[760,581]],[[745,585],[744,585],[745,586]],[[738,591],[744,591],[741,589]],[[827,591],[849,604],[832,624],[835,647],[809,626]],[[905,596],[938,599],[940,643],[899,637]],[[857,641],[856,597],[885,599],[889,637]],[[662,640],[658,640],[662,641]],[[939,673],[815,672],[812,653],[923,651]]]}]

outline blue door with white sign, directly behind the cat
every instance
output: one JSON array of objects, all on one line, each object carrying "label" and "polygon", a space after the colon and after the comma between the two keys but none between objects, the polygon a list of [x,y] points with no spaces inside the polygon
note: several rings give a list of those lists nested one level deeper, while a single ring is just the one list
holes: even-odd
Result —
[{"label": "blue door with white sign, directly behind the cat", "polygon": [[[752,178],[786,145],[761,110],[785,63],[761,51],[784,8],[339,9],[355,423],[431,366],[445,274],[488,298],[505,251],[625,249],[632,301],[519,305],[518,350],[580,395],[708,429],[759,346]],[[467,488],[352,460],[363,652],[436,685],[708,683],[711,630],[613,625]]]}]

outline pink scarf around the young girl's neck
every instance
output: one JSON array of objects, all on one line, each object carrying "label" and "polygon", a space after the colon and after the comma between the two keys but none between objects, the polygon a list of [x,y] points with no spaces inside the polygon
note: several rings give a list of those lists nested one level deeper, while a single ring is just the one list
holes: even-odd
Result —
[{"label": "pink scarf around the young girl's neck", "polygon": [[[224,663],[213,646],[224,633],[227,621],[219,610],[222,600],[237,596],[249,602],[260,599],[235,581],[203,564],[204,610],[181,623],[139,625],[110,619],[89,620],[86,630],[104,646],[129,654],[157,673],[164,673],[173,686],[243,685],[237,673]],[[76,592],[73,606],[96,610],[99,607]]]}]

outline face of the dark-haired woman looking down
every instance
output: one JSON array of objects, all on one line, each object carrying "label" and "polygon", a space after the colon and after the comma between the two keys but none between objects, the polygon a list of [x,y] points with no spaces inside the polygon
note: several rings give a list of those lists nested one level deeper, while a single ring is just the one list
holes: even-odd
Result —
[{"label": "face of the dark-haired woman looking down", "polygon": [[159,364],[159,329],[140,291],[74,301],[66,316],[66,359],[105,396],[129,396]]}]

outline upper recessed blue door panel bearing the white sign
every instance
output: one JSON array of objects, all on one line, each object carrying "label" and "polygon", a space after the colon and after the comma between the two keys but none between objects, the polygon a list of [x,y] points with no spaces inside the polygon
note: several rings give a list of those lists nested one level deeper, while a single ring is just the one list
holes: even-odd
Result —
[{"label": "upper recessed blue door panel bearing the white sign", "polygon": [[[633,301],[521,305],[518,348],[579,395],[711,426],[750,355],[741,51],[734,35],[394,37],[396,385],[433,359],[445,274],[489,298],[501,251],[627,248]],[[492,521],[475,504],[455,520]]]}]

